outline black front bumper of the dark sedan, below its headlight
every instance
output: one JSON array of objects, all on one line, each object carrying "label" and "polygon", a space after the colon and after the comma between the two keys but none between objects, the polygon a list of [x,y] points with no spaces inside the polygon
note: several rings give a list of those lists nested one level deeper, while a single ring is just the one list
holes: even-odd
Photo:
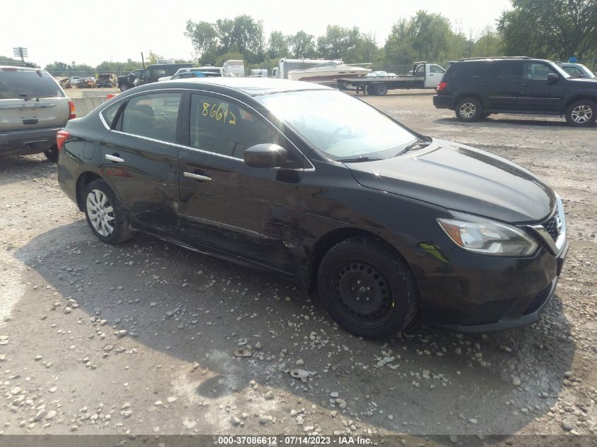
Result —
[{"label": "black front bumper of the dark sedan, below its headlight", "polygon": [[422,322],[458,332],[490,332],[535,323],[555,292],[569,249],[542,247],[533,258],[496,258],[459,250],[451,266],[420,282]]}]

